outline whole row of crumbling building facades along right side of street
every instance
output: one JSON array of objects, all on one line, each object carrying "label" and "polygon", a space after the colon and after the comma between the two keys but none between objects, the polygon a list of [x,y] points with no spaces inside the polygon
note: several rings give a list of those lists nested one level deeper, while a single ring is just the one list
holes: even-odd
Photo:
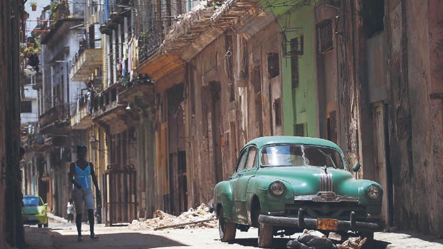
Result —
[{"label": "whole row of crumbling building facades along right side of street", "polygon": [[384,188],[388,226],[442,234],[439,1],[87,8],[88,40],[101,46],[71,67],[90,94],[70,127],[88,145],[108,223],[210,203],[247,141],[296,135],[360,162],[356,177]]}]

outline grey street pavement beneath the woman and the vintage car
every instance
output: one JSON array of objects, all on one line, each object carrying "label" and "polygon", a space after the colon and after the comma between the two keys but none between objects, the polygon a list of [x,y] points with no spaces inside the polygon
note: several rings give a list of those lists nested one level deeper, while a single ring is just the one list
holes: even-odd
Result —
[{"label": "grey street pavement beneath the woman and the vintage car", "polygon": [[[88,235],[89,226],[84,224],[84,235]],[[223,243],[218,239],[217,229],[169,229],[163,231],[133,231],[125,226],[105,227],[97,225],[98,241],[77,241],[75,224],[50,223],[49,228],[26,227],[26,242],[30,249],[40,248],[257,248],[257,229],[248,232],[238,232],[232,243]],[[87,238],[87,236],[85,236]],[[272,248],[286,248],[289,237],[276,237]],[[443,239],[408,233],[375,234],[375,241],[365,244],[370,249],[409,249],[426,248],[442,249]]]}]

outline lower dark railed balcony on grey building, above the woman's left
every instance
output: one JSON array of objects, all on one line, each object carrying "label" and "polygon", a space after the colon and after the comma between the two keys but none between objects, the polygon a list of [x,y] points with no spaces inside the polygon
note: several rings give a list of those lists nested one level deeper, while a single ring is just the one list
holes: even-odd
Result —
[{"label": "lower dark railed balcony on grey building, above the woman's left", "polygon": [[40,132],[43,134],[63,134],[68,127],[69,118],[68,104],[54,106],[40,116]]}]

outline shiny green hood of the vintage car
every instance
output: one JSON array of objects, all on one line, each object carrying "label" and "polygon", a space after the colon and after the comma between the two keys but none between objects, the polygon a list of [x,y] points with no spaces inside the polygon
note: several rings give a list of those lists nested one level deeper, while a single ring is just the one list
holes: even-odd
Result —
[{"label": "shiny green hood of the vintage car", "polygon": [[257,171],[257,176],[271,177],[285,183],[288,190],[294,195],[316,195],[321,188],[321,179],[324,175],[332,177],[332,191],[340,196],[358,197],[371,184],[377,183],[367,180],[355,180],[350,172],[338,169],[321,167],[266,167]]}]

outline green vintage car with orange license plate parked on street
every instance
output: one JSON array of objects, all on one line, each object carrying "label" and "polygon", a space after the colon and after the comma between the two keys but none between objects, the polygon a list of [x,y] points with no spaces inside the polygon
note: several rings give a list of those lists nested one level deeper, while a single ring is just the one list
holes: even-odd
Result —
[{"label": "green vintage car with orange license plate parked on street", "polygon": [[[352,167],[357,172],[360,164]],[[350,169],[349,169],[350,170]],[[382,229],[383,191],[355,180],[337,144],[319,138],[260,137],[246,144],[229,181],[214,188],[221,241],[237,229],[258,227],[258,245],[304,228],[358,232],[372,239]]]}]

